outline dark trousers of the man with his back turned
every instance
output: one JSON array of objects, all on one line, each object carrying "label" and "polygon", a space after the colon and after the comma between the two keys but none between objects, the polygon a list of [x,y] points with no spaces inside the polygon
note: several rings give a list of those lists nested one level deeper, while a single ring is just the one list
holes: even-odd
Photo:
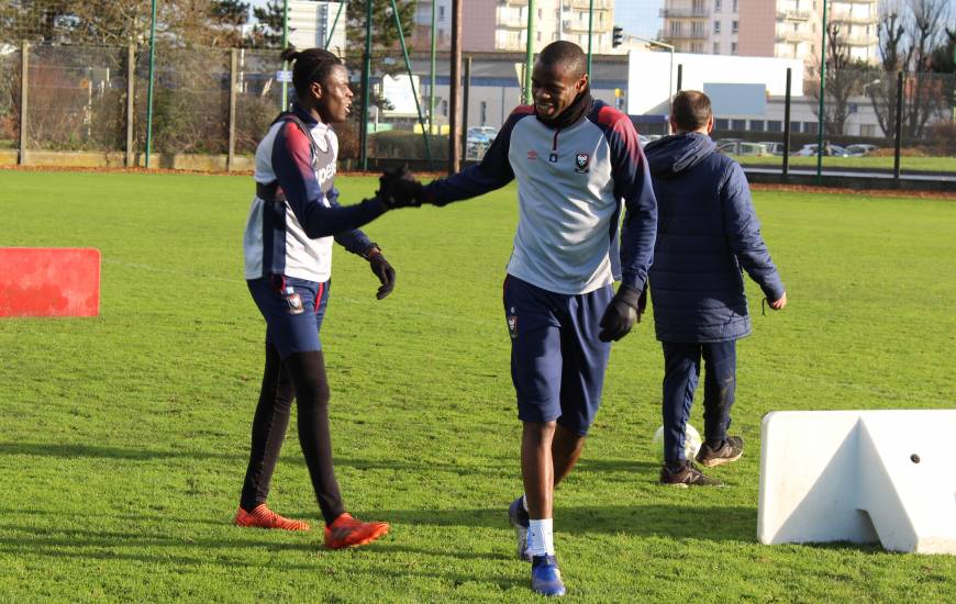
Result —
[{"label": "dark trousers of the man with his back turned", "polygon": [[710,344],[662,342],[664,347],[664,459],[685,458],[683,433],[704,361],[703,437],[719,444],[727,437],[736,387],[736,340]]}]

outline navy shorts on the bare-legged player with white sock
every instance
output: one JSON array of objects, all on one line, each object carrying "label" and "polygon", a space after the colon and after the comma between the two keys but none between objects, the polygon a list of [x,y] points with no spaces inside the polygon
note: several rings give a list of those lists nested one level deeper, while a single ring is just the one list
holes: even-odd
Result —
[{"label": "navy shorts on the bare-legged player with white sock", "polygon": [[504,317],[511,335],[511,380],[523,422],[557,421],[581,436],[598,414],[611,345],[599,323],[614,295],[605,286],[567,295],[516,277],[504,279]]}]

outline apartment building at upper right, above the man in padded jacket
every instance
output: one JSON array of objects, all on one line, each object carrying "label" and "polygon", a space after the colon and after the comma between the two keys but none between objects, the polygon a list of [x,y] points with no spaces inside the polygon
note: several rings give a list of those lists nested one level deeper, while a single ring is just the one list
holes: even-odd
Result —
[{"label": "apartment building at upper right, above the man in padded jacket", "polygon": [[[827,22],[854,59],[878,60],[877,0],[830,0]],[[812,63],[823,0],[667,0],[660,37],[678,52],[800,58]]]}]

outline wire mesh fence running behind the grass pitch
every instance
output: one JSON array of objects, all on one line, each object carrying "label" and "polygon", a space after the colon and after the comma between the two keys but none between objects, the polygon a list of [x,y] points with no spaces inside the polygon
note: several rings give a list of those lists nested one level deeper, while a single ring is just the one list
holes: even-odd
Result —
[{"label": "wire mesh fence running behind the grass pitch", "polygon": [[[25,149],[21,155],[29,155],[31,150],[115,154],[122,157],[121,163],[142,165],[138,156],[145,150],[147,127],[148,54],[145,48],[30,46],[26,58],[27,127],[25,145],[21,145],[21,52],[8,47],[8,52],[0,55],[0,149]],[[355,64],[358,57],[347,59]],[[374,60],[397,72],[404,71],[400,56],[376,51]],[[471,89],[473,107],[465,107],[466,115],[471,115],[467,124],[470,126],[485,126],[486,114],[505,115],[504,105],[510,112],[515,102],[512,97],[516,99],[518,94],[516,79],[511,82],[503,77],[513,68],[510,63],[502,58],[482,60],[477,71],[485,83],[479,81],[477,88]],[[427,111],[431,90],[426,57],[413,56],[412,63],[415,75],[421,78],[416,92],[422,110]],[[501,65],[505,66],[503,71]],[[618,76],[607,70],[625,71],[626,64],[604,65],[598,60],[594,68],[596,72],[603,74],[596,80],[599,86],[593,88],[598,94],[602,80],[607,80],[604,83],[616,81]],[[281,60],[275,49],[157,47],[152,150],[162,157],[155,165],[175,167],[175,156],[184,154],[252,155],[281,107],[281,83],[276,79],[279,69]],[[132,81],[129,79],[131,70]],[[444,64],[438,67],[437,88],[440,96],[447,94]],[[819,79],[814,80],[812,72],[807,74],[803,89],[792,91],[789,121],[781,109],[782,101],[769,98],[766,115],[718,114],[713,137],[729,143],[726,153],[748,167],[762,167],[776,174],[785,169],[811,170],[816,165],[813,155],[819,142],[818,90]],[[356,86],[356,109],[360,94]],[[492,104],[497,99],[501,108]],[[447,123],[448,118],[443,115],[443,111],[447,111],[443,109],[445,104],[446,100],[436,107],[434,118],[438,124]],[[901,112],[899,104],[902,104]],[[954,107],[956,74],[909,74],[900,81],[898,74],[881,72],[876,67],[831,72],[823,103],[826,154],[823,168],[956,175]],[[352,121],[336,126],[340,156],[346,161],[359,156],[358,113],[354,111]],[[640,118],[635,121],[640,128]],[[414,132],[416,116],[385,116],[381,124],[383,132],[375,132],[369,137],[369,157],[419,161],[422,167],[425,146],[421,130]],[[785,137],[788,131],[789,139]],[[474,153],[467,158],[477,159],[487,148],[488,139],[469,147]],[[436,165],[441,166],[448,156],[447,136],[431,135],[430,146]],[[220,161],[213,167],[216,166],[225,168],[233,164]]]}]

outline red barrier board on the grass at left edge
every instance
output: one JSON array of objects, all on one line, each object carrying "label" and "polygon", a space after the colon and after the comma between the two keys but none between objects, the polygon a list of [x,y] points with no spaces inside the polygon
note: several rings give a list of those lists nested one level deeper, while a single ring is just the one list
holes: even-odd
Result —
[{"label": "red barrier board on the grass at left edge", "polygon": [[0,316],[99,314],[99,249],[0,247]]}]

